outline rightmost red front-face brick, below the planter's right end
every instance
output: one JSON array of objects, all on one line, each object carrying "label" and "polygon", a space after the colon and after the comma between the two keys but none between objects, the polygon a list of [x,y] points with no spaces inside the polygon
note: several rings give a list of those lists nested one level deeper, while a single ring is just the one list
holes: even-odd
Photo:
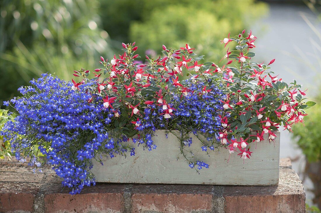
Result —
[{"label": "rightmost red front-face brick, below the planter's right end", "polygon": [[305,194],[225,196],[225,212],[304,213]]}]

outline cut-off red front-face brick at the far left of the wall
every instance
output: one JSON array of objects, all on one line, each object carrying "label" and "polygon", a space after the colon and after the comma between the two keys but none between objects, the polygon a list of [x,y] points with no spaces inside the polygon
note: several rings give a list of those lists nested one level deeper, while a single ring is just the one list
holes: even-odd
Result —
[{"label": "cut-off red front-face brick at the far left of the wall", "polygon": [[0,193],[0,212],[32,212],[34,199],[34,193]]}]

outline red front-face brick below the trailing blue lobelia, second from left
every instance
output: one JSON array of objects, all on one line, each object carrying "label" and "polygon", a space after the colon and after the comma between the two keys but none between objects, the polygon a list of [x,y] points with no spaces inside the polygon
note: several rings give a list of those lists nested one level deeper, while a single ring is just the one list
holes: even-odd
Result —
[{"label": "red front-face brick below the trailing blue lobelia, second from left", "polygon": [[51,193],[44,197],[46,212],[123,212],[123,193]]}]

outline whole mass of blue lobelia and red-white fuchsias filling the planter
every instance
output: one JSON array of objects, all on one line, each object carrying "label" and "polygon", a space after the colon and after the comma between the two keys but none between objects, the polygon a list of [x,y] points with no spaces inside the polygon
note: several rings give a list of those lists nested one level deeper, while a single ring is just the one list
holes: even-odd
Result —
[{"label": "whole mass of blue lobelia and red-white fuchsias filling the planter", "polygon": [[[21,97],[4,102],[19,114],[1,134],[18,160],[30,159],[35,170],[51,165],[71,194],[95,184],[93,160],[133,156],[135,146],[156,149],[157,129],[177,136],[178,156],[197,172],[209,165],[195,159],[191,134],[202,143],[193,148],[207,155],[226,148],[247,159],[248,143],[263,141],[264,134],[273,142],[280,125],[291,131],[293,123],[303,122],[303,109],[315,103],[304,102],[296,82],[288,85],[271,75],[274,60],[251,62],[256,37],[244,34],[221,41],[237,44],[227,50],[221,68],[201,63],[189,45],[178,50],[163,45],[163,57],[139,62],[133,43],[122,44],[124,53],[110,62],[101,57],[103,68],[94,70],[94,78],[84,69],[74,71],[81,79],[72,82],[43,74],[19,89]],[[192,77],[180,82],[183,73]]]}]

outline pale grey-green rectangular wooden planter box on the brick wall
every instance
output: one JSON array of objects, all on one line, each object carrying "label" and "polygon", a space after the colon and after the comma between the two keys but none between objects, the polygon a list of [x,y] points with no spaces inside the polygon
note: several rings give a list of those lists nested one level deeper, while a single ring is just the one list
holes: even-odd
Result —
[{"label": "pale grey-green rectangular wooden planter box on the brick wall", "polygon": [[[221,148],[219,152],[210,152],[210,157],[201,149],[201,142],[191,134],[193,153],[198,160],[209,164],[200,174],[188,167],[181,156],[176,159],[179,142],[175,135],[165,130],[157,130],[153,137],[157,148],[152,151],[135,147],[135,156],[116,156],[103,160],[104,166],[94,162],[91,170],[97,182],[141,183],[141,184],[213,184],[213,185],[277,185],[279,182],[280,132],[276,133],[274,143],[265,141],[250,143],[252,157],[243,159],[232,153],[229,163],[229,150]],[[274,146],[275,144],[275,146]],[[134,144],[133,144],[134,145]],[[135,146],[135,145],[134,145]],[[188,149],[187,149],[188,150]]]}]

